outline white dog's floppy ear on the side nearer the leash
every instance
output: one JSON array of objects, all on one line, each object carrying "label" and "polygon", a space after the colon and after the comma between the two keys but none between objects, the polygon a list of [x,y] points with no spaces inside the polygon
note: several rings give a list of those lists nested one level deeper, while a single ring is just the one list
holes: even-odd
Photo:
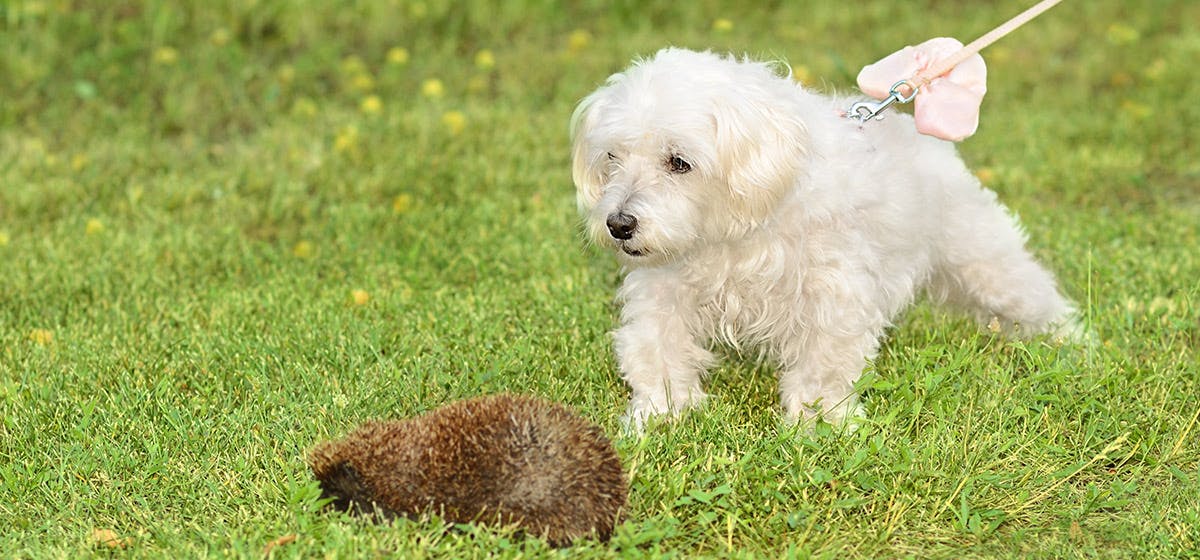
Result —
[{"label": "white dog's floppy ear on the side nearer the leash", "polygon": [[[739,84],[713,109],[716,152],[734,212],[757,222],[796,183],[808,157],[809,132],[775,84]],[[787,100],[787,101],[785,101]]]}]

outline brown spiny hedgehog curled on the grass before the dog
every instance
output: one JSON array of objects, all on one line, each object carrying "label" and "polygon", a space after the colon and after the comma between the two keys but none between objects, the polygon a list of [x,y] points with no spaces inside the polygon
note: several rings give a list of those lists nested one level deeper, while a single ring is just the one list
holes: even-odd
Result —
[{"label": "brown spiny hedgehog curled on the grass before the dog", "polygon": [[340,510],[515,524],[560,547],[612,535],[628,495],[620,458],[564,405],[497,395],[367,422],[308,463]]}]

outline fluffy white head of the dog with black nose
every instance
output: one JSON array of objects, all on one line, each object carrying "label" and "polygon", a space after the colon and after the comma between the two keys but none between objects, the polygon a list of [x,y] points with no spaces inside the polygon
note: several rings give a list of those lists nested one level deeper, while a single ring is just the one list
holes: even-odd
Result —
[{"label": "fluffy white head of the dog with black nose", "polygon": [[571,118],[588,235],[640,266],[758,227],[805,165],[796,88],[766,64],[674,48],[608,78]]}]

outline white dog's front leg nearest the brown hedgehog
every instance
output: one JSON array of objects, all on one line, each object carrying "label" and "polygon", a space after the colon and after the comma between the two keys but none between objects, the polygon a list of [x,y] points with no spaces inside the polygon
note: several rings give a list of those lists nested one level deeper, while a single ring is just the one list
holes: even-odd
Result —
[{"label": "white dog's front leg nearest the brown hedgehog", "polygon": [[613,333],[617,365],[631,398],[625,424],[641,430],[650,416],[678,414],[703,402],[701,377],[713,362],[697,331],[695,295],[678,276],[638,269],[618,295],[622,326]]}]

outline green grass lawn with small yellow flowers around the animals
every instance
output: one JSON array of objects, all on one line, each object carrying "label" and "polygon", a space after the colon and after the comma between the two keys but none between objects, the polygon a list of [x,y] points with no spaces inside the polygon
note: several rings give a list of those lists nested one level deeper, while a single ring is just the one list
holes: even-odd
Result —
[{"label": "green grass lawn with small yellow flowers around the animals", "polygon": [[[731,357],[707,408],[636,439],[607,336],[619,271],[575,216],[574,103],[665,44],[844,90],[1027,2],[641,4],[0,4],[0,550],[1198,554],[1200,4],[1064,2],[985,53],[961,151],[1093,348],[920,305],[853,435],[784,428],[772,371]],[[610,543],[319,510],[314,442],[498,391],[617,436],[632,492]]]}]

